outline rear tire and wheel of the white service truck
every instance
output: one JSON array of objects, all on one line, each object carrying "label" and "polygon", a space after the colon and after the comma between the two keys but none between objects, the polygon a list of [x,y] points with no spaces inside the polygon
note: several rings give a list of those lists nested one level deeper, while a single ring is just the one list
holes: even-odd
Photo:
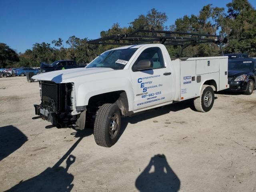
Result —
[{"label": "rear tire and wheel of the white service truck", "polygon": [[214,104],[214,90],[211,86],[203,85],[201,95],[194,99],[194,106],[198,112],[208,112]]}]

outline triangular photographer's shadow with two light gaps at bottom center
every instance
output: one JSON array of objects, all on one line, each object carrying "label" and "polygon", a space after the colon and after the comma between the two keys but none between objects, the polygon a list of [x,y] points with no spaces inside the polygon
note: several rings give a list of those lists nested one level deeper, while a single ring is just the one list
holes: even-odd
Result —
[{"label": "triangular photographer's shadow with two light gaps at bottom center", "polygon": [[180,179],[164,155],[155,155],[135,182],[140,192],[178,192]]}]

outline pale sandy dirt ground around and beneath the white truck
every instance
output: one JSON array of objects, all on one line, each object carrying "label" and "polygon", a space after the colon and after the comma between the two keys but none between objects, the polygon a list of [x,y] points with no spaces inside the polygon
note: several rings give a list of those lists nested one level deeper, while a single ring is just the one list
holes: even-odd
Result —
[{"label": "pale sandy dirt ground around and beneath the white truck", "polygon": [[122,118],[103,148],[91,129],[32,119],[38,82],[0,78],[0,191],[256,191],[256,90],[215,96],[207,113],[181,102]]}]

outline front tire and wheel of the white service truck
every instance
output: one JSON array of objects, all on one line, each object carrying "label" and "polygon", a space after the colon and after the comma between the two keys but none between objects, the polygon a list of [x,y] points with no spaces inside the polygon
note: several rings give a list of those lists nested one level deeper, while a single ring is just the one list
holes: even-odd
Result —
[{"label": "front tire and wheel of the white service truck", "polygon": [[94,139],[102,147],[111,147],[120,134],[121,113],[116,104],[103,104],[96,112]]}]

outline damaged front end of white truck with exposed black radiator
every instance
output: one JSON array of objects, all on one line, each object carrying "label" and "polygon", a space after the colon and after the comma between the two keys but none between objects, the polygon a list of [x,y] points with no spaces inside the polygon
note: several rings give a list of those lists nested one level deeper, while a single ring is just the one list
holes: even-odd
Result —
[{"label": "damaged front end of white truck with exposed black radiator", "polygon": [[[40,81],[41,104],[34,105],[36,115],[43,120],[52,123],[53,126],[74,127],[84,129],[76,125],[82,111],[86,106],[76,108],[76,95],[73,83],[55,83],[52,81]],[[84,113],[83,113],[84,114]]]}]

